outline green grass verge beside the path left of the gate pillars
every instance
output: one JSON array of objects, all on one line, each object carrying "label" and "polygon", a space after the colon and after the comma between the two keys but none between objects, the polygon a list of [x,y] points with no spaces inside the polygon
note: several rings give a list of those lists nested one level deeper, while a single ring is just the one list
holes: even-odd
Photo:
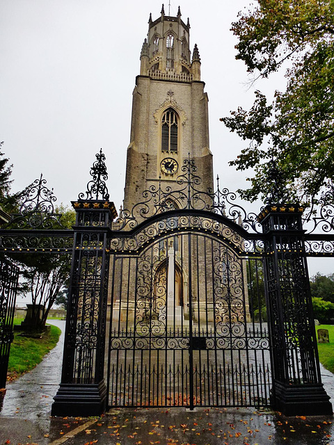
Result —
[{"label": "green grass verge beside the path left of the gate pillars", "polygon": [[[22,319],[15,318],[14,324],[19,325]],[[51,330],[46,332],[41,339],[20,337],[20,332],[15,331],[14,340],[10,346],[7,380],[15,380],[20,375],[31,371],[42,362],[45,354],[58,343],[61,330],[51,325]]]}]

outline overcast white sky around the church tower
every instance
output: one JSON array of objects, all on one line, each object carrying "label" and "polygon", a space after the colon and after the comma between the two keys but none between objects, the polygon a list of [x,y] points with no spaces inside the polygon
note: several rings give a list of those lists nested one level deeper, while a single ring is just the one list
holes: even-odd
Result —
[{"label": "overcast white sky around the church tower", "polygon": [[[14,164],[13,189],[43,173],[58,203],[86,191],[89,170],[102,147],[109,194],[119,209],[139,56],[157,0],[2,0],[0,3],[0,140]],[[179,1],[170,0],[170,15]],[[209,95],[210,148],[215,174],[231,191],[246,175],[228,167],[243,141],[219,121],[253,103],[254,90],[284,88],[282,75],[248,88],[244,63],[235,60],[230,31],[246,0],[180,0],[189,17],[191,50],[198,44]],[[168,0],[165,1],[168,13]],[[253,204],[253,211],[260,204]],[[328,261],[310,273],[330,273]]]}]

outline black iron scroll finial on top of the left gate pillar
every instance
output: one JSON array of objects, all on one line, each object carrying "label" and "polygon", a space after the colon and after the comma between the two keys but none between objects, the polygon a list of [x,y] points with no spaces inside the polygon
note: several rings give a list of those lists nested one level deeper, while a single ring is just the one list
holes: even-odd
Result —
[{"label": "black iron scroll finial on top of the left gate pillar", "polygon": [[108,179],[108,173],[106,172],[106,156],[102,153],[102,148],[100,153],[96,155],[96,161],[93,163],[92,168],[90,168],[90,176],[93,177],[87,184],[86,197],[85,193],[81,192],[78,195],[79,200],[101,200],[108,201],[109,193],[106,187],[106,180]]}]

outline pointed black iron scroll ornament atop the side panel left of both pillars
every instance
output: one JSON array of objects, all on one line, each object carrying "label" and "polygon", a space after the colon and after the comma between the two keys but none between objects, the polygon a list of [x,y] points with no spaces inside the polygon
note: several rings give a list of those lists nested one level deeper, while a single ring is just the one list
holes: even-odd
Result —
[{"label": "pointed black iron scroll ornament atop the side panel left of both pillars", "polygon": [[15,213],[6,229],[57,229],[65,228],[61,223],[61,213],[55,213],[57,198],[54,189],[47,188],[47,181],[40,175],[26,188],[19,198],[19,213]]}]

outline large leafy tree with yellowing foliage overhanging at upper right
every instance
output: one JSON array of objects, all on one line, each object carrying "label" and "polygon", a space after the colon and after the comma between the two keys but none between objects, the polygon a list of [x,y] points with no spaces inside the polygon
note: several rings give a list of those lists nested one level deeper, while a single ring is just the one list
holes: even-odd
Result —
[{"label": "large leafy tree with yellowing foliage overhanging at upper right", "polygon": [[[291,200],[333,203],[334,191],[334,1],[257,0],[232,24],[244,60],[256,80],[285,71],[287,87],[273,102],[255,91],[249,111],[238,108],[221,120],[248,141],[230,161],[237,170],[253,169],[241,197],[269,194],[268,172],[276,159]],[[322,193],[322,196],[321,196]]]}]

